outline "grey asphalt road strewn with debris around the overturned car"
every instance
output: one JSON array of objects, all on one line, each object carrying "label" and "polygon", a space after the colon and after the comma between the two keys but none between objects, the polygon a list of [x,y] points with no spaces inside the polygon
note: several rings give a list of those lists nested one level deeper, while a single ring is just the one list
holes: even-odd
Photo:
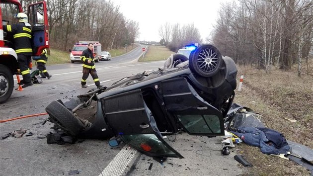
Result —
[{"label": "grey asphalt road strewn with debris around the overturned car", "polygon": [[[136,62],[142,54],[142,47],[112,58],[111,61],[95,63],[101,84],[110,86],[123,77],[163,66],[164,61]],[[23,91],[14,90],[10,99],[0,104],[0,120],[45,113],[45,107],[51,101],[68,101],[95,88],[91,76],[87,79],[88,87],[80,88],[81,63],[48,66],[47,70],[53,75],[50,80],[44,79],[42,84],[24,88]],[[80,140],[73,145],[47,144],[45,136],[53,130],[50,122],[43,125],[47,117],[48,115],[42,115],[0,123],[0,137],[19,129],[25,129],[26,134],[33,134],[24,134],[20,138],[10,136],[0,140],[1,176],[62,176],[69,175],[74,170],[79,171],[79,176],[99,176],[112,160],[126,160],[125,157],[116,156],[123,153],[127,146],[122,144],[112,148],[106,140]],[[168,158],[161,165],[151,157],[134,152],[131,163],[120,175],[242,174],[242,168],[234,160],[234,152],[229,156],[221,155],[221,140],[221,137],[208,138],[185,133],[167,136],[165,141],[184,156],[184,159]]]}]

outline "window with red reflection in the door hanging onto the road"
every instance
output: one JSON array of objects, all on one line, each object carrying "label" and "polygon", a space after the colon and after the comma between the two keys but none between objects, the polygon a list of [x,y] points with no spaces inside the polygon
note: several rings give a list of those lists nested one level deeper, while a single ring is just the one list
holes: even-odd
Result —
[{"label": "window with red reflection in the door hanging onto the road", "polygon": [[143,152],[150,152],[154,154],[161,154],[167,156],[176,155],[168,149],[155,134],[136,134],[136,135],[123,135],[123,140],[130,146]]}]

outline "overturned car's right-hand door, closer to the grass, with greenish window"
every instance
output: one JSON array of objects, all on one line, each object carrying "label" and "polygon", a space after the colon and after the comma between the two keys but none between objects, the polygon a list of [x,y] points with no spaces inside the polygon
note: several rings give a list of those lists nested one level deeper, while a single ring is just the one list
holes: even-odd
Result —
[{"label": "overturned car's right-hand door, closer to the grass, with greenish window", "polygon": [[221,111],[206,102],[185,78],[161,82],[163,100],[168,112],[190,135],[224,135]]}]

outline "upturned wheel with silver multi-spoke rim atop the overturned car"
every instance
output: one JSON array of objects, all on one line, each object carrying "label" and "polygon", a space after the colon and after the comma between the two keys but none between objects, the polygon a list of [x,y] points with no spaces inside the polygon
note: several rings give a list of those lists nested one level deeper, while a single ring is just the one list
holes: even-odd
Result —
[{"label": "upturned wheel with silver multi-spoke rim atop the overturned car", "polygon": [[189,56],[189,68],[202,77],[214,76],[222,66],[222,55],[213,45],[200,45]]}]

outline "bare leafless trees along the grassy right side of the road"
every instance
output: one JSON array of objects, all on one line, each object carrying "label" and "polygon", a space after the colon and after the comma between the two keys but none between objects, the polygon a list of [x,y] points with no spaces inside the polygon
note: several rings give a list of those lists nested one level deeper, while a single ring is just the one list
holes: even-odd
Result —
[{"label": "bare leafless trees along the grassy right side of the road", "polygon": [[[197,17],[197,16],[195,16]],[[205,16],[198,16],[205,19]],[[297,65],[298,76],[313,75],[313,0],[234,0],[219,9],[215,30],[206,42],[239,65],[251,64],[271,72]],[[193,25],[161,25],[159,35],[172,51],[186,44],[202,43]],[[312,52],[312,51],[311,51]]]}]

